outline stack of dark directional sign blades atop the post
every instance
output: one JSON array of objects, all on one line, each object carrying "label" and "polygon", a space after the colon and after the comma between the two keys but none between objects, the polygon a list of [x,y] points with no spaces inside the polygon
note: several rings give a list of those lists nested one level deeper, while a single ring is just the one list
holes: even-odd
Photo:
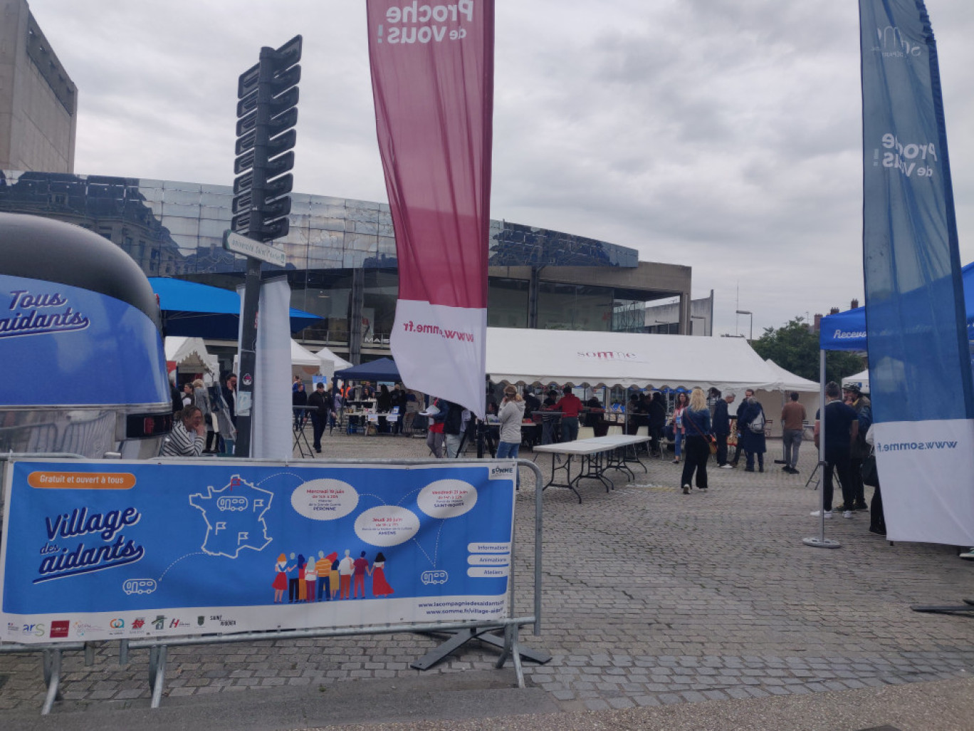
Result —
[{"label": "stack of dark directional sign blades atop the post", "polygon": [[299,35],[277,50],[262,48],[260,61],[244,71],[237,84],[237,178],[231,228],[256,241],[287,235],[300,59]]}]

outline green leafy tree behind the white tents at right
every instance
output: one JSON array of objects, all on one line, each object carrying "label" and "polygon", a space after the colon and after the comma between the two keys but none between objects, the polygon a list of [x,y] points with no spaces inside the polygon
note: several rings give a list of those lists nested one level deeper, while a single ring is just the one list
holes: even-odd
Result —
[{"label": "green leafy tree behind the white tents at right", "polygon": [[[760,338],[751,346],[764,359],[771,359],[785,370],[817,381],[818,333],[805,324],[805,318],[795,318],[785,327],[766,327]],[[827,381],[841,383],[847,375],[858,373],[865,367],[865,360],[856,353],[829,351],[825,356]]]}]

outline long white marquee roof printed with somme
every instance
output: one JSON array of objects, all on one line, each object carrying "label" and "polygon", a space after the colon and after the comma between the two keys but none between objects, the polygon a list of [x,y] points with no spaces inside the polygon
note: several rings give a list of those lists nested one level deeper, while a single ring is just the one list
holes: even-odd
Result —
[{"label": "long white marquee roof printed with somme", "polygon": [[495,383],[779,389],[768,364],[735,337],[488,327],[486,360]]}]

